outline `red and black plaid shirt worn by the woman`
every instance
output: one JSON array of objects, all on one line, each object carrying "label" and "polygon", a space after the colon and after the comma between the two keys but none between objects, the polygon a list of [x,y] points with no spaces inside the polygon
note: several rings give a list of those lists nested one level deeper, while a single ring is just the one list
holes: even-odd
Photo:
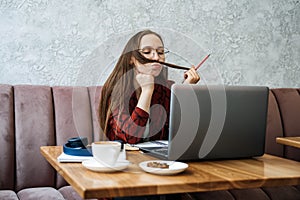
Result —
[{"label": "red and black plaid shirt worn by the woman", "polygon": [[143,109],[136,107],[138,99],[134,92],[129,100],[128,108],[125,107],[122,110],[118,108],[112,112],[108,121],[107,137],[110,140],[122,140],[130,144],[142,142],[149,119],[149,139],[168,139],[170,87],[173,83],[173,81],[167,81],[166,86],[154,85],[150,116]]}]

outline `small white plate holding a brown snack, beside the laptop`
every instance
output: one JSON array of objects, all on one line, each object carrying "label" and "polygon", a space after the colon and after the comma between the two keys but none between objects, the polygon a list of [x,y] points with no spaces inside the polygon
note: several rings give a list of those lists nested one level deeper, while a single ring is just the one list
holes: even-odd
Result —
[{"label": "small white plate holding a brown snack, beside the laptop", "polygon": [[[160,162],[166,163],[169,165],[169,168],[154,168],[154,167],[147,167],[149,162]],[[139,166],[146,172],[158,175],[173,175],[183,172],[185,169],[188,168],[188,164],[183,162],[176,162],[176,161],[166,161],[166,160],[149,160],[145,162],[141,162]]]}]

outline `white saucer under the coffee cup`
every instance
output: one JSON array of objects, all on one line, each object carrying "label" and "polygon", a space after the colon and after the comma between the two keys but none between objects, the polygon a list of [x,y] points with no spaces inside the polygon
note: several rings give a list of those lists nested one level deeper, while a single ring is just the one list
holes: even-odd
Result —
[{"label": "white saucer under the coffee cup", "polygon": [[96,172],[115,172],[126,169],[128,165],[130,165],[130,162],[128,160],[122,160],[117,161],[114,166],[105,166],[92,158],[90,160],[83,161],[82,165],[85,168]]}]

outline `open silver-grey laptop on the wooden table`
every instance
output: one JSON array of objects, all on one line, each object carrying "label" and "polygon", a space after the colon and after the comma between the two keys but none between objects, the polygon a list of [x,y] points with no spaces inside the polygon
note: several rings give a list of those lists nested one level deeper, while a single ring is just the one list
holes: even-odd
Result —
[{"label": "open silver-grey laptop on the wooden table", "polygon": [[264,154],[268,87],[174,84],[168,146],[144,148],[167,160],[211,160]]}]

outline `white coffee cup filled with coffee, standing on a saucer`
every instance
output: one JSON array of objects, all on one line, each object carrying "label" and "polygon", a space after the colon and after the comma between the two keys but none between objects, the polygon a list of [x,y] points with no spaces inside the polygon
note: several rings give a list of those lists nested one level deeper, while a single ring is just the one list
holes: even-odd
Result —
[{"label": "white coffee cup filled with coffee, standing on a saucer", "polygon": [[114,166],[121,151],[121,143],[99,141],[92,143],[93,157],[103,165]]}]

